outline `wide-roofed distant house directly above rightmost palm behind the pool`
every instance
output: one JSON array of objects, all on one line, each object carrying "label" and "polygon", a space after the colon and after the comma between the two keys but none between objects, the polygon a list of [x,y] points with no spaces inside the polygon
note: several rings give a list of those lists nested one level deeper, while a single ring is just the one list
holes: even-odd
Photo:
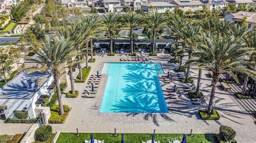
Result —
[{"label": "wide-roofed distant house directly above rightmost palm behind the pool", "polygon": [[146,4],[140,5],[141,9],[148,12],[150,10],[150,6],[154,7],[159,13],[164,13],[166,10],[173,11],[176,5],[170,4],[167,2],[148,2]]}]

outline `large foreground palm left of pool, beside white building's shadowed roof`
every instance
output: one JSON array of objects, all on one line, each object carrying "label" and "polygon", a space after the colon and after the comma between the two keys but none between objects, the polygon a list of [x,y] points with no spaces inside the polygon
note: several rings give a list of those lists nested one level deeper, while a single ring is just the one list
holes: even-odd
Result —
[{"label": "large foreground palm left of pool, beside white building's shadowed roof", "polygon": [[30,59],[43,65],[40,69],[30,69],[30,71],[46,70],[50,69],[54,75],[56,81],[58,103],[60,108],[60,114],[64,115],[62,96],[60,92],[60,76],[66,72],[70,65],[79,63],[79,61],[73,61],[72,64],[66,64],[72,57],[76,57],[79,54],[78,51],[74,51],[74,45],[72,40],[65,39],[64,37],[55,37],[54,43],[49,38],[40,41],[40,45],[37,47],[38,57]]}]

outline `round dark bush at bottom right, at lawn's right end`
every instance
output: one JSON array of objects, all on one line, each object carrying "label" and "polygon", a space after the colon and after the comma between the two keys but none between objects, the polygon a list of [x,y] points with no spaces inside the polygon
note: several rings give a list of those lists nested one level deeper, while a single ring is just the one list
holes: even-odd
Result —
[{"label": "round dark bush at bottom right, at lawn's right end", "polygon": [[228,141],[233,141],[235,136],[236,136],[236,131],[234,131],[234,129],[232,129],[231,127],[225,126],[225,125],[220,126],[219,137],[220,137],[221,141],[226,141],[226,139]]}]

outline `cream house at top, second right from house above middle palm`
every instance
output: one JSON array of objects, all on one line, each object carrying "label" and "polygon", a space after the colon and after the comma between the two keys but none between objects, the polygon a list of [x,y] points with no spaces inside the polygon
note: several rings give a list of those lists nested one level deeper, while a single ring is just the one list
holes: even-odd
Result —
[{"label": "cream house at top, second right from house above middle palm", "polygon": [[200,1],[192,1],[192,0],[175,0],[172,1],[171,4],[175,4],[176,8],[183,10],[184,12],[191,10],[192,12],[203,10],[203,3]]}]

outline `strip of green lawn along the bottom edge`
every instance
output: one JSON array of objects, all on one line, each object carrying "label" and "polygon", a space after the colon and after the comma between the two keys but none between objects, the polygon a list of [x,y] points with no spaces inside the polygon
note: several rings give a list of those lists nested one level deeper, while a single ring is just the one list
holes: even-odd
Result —
[{"label": "strip of green lawn along the bottom edge", "polygon": [[[94,139],[104,139],[104,143],[121,142],[120,133],[116,137],[110,136],[109,133],[94,133],[93,136]],[[169,141],[182,140],[182,137],[182,134],[156,134],[155,141],[159,140],[160,143],[168,143],[168,139]],[[60,133],[56,143],[82,143],[85,139],[90,140],[90,133],[80,133],[79,136],[76,133]],[[126,143],[141,143],[150,139],[152,139],[151,134],[124,134]],[[187,135],[187,143],[218,143],[218,141],[215,138],[215,134],[194,134],[192,137]]]}]

